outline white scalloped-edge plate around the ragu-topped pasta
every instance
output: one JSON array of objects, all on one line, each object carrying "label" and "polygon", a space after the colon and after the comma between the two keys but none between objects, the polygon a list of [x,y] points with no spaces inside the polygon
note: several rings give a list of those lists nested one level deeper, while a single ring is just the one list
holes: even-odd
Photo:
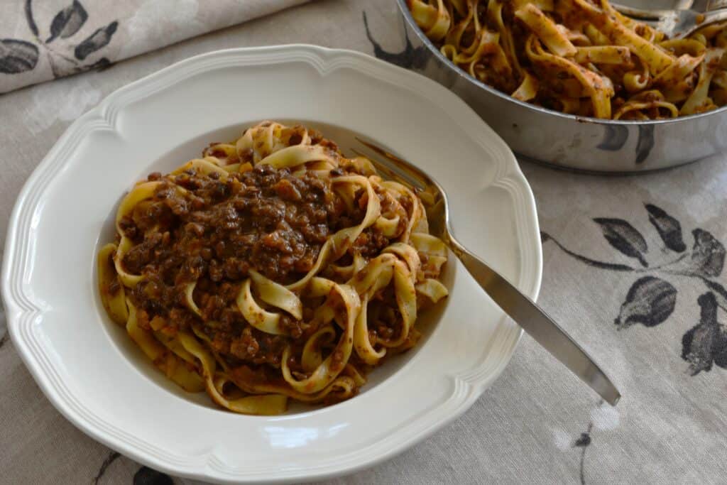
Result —
[{"label": "white scalloped-edge plate around the ragu-topped pasta", "polygon": [[513,153],[433,81],[356,52],[292,45],[212,52],[119,89],[68,128],[25,184],[2,296],[15,347],[57,409],[174,475],[292,481],[373,465],[465,412],[521,335],[452,258],[451,295],[420,323],[425,341],[374,371],[350,401],[241,416],[161,376],[105,316],[97,248],[135,180],[262,119],[323,127],[344,151],[358,133],[416,162],[447,189],[467,246],[529,296],[540,285],[534,199]]}]

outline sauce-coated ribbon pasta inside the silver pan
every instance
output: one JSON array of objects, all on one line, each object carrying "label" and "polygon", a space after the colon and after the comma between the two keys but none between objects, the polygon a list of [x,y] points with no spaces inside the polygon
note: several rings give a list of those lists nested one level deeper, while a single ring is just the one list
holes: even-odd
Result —
[{"label": "sauce-coated ribbon pasta inside the silver pan", "polygon": [[608,0],[407,0],[455,65],[515,97],[601,119],[669,119],[727,104],[727,23],[688,39]]}]

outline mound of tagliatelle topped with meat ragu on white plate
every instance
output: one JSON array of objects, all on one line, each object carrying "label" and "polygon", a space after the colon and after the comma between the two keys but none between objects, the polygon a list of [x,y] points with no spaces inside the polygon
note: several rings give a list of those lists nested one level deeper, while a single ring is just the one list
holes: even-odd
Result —
[{"label": "mound of tagliatelle topped with meat ragu on white plate", "polygon": [[266,121],[121,201],[98,254],[113,321],[233,412],[355,396],[447,295],[417,193],[305,127]]}]

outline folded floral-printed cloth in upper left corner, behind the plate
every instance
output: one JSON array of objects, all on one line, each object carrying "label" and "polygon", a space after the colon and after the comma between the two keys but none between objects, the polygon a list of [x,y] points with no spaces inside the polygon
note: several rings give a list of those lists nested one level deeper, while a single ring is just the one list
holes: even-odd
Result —
[{"label": "folded floral-printed cloth in upper left corner, behind the plate", "polygon": [[164,47],[308,0],[2,0],[0,93]]}]

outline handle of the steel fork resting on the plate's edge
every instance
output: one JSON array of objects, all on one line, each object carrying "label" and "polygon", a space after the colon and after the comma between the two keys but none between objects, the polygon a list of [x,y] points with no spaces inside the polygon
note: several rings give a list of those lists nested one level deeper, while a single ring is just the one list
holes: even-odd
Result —
[{"label": "handle of the steel fork resting on the plate's edge", "polygon": [[446,243],[465,265],[470,275],[531,337],[565,364],[583,382],[598,393],[608,404],[615,406],[621,394],[608,376],[598,367],[574,340],[561,329],[553,318],[529,297],[522,294],[510,281],[472,254],[449,234]]}]

